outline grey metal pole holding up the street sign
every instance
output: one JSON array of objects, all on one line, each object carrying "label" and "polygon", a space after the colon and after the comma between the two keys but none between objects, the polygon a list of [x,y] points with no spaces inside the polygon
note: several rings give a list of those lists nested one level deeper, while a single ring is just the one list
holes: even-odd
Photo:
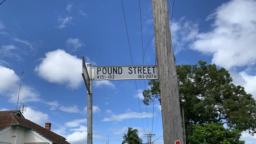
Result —
[{"label": "grey metal pole holding up the street sign", "polygon": [[89,90],[87,91],[87,144],[93,144],[93,87],[91,80],[91,64],[87,63],[89,81]]}]

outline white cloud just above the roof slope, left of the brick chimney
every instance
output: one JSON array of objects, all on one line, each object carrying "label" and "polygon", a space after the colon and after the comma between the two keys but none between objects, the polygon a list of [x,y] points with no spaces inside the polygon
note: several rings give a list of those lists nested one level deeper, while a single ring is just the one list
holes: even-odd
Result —
[{"label": "white cloud just above the roof slope, left of the brick chimney", "polygon": [[27,107],[26,112],[24,112],[23,115],[26,119],[43,127],[45,127],[45,123],[49,120],[48,114],[33,110],[30,107]]}]

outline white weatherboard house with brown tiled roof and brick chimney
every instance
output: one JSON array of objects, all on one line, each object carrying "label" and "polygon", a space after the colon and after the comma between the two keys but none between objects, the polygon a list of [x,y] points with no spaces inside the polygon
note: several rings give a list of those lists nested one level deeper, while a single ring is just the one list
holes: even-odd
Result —
[{"label": "white weatherboard house with brown tiled roof and brick chimney", "polygon": [[20,111],[0,111],[0,144],[70,144],[50,127],[27,120]]}]

